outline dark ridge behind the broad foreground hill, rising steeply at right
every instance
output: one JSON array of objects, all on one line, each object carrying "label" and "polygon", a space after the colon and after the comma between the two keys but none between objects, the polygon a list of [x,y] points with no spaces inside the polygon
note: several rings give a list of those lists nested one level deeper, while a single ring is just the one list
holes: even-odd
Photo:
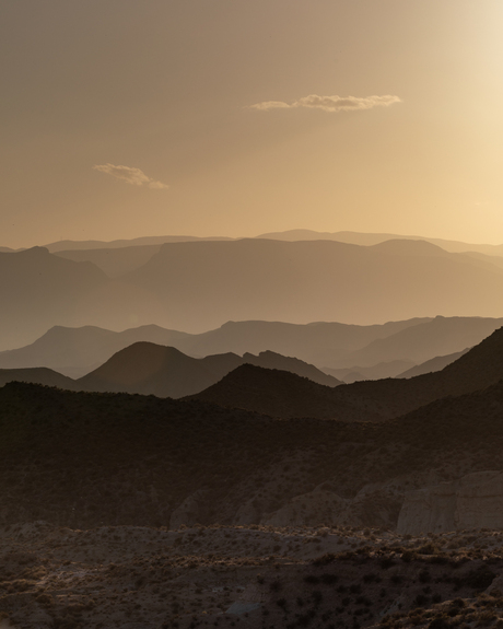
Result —
[{"label": "dark ridge behind the broad foreground hill, rising steeply at right", "polygon": [[[258,377],[261,380],[257,380]],[[286,375],[283,378],[284,382],[289,380]],[[304,391],[302,408],[311,406],[311,415],[316,417],[327,417],[331,409],[331,417],[349,421],[355,417],[355,409],[360,410],[361,418],[365,421],[371,415],[391,418],[435,399],[483,389],[502,378],[503,328],[500,328],[442,371],[409,380],[355,382],[327,391],[308,387]],[[260,384],[257,384],[258,382]],[[288,413],[283,417],[290,417],[289,397],[295,388],[295,383],[290,378],[290,384],[286,386],[284,382],[278,387],[272,375],[258,376],[257,372],[248,370],[247,373],[229,374],[210,391],[201,392],[196,398],[276,416],[279,416],[283,408]],[[317,416],[321,408],[323,415]],[[351,413],[346,415],[349,408]]]}]

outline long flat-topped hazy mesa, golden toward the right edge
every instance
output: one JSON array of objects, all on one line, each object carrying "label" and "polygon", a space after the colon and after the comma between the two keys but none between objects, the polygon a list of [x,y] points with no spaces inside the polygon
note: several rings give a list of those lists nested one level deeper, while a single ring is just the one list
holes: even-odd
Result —
[{"label": "long flat-topped hazy mesa, golden toward the right edge", "polygon": [[414,241],[172,243],[121,279],[155,298],[177,329],[503,312],[503,269]]}]

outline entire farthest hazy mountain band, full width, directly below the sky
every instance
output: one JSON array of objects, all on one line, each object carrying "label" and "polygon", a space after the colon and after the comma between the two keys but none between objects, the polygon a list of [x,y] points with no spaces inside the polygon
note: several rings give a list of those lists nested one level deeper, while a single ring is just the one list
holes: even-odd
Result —
[{"label": "entire farthest hazy mountain band, full width, directly below the sky", "polygon": [[179,238],[87,253],[0,253],[0,349],[33,342],[55,325],[155,324],[199,333],[229,319],[370,325],[503,313],[502,258],[493,264],[482,253],[448,253],[413,240],[363,246]]}]

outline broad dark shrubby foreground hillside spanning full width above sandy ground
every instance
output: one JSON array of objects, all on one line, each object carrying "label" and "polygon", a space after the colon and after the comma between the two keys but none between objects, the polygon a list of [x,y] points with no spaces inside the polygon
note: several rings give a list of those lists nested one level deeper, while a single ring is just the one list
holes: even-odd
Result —
[{"label": "broad dark shrubby foreground hillside spanning full width above sandy ground", "polygon": [[0,389],[2,525],[395,526],[403,492],[503,468],[503,383],[381,423]]}]

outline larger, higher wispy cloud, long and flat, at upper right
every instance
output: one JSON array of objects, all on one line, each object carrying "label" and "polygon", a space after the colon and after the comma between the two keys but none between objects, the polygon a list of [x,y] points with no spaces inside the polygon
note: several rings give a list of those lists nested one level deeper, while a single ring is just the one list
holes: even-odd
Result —
[{"label": "larger, higher wispy cloud, long and flat, at upper right", "polygon": [[292,109],[295,107],[307,107],[311,109],[323,109],[324,112],[351,112],[361,109],[372,109],[373,107],[389,107],[394,103],[401,103],[398,96],[389,94],[385,96],[318,96],[311,94],[294,101],[292,104],[282,103],[281,101],[265,101],[252,105],[252,109]]}]

